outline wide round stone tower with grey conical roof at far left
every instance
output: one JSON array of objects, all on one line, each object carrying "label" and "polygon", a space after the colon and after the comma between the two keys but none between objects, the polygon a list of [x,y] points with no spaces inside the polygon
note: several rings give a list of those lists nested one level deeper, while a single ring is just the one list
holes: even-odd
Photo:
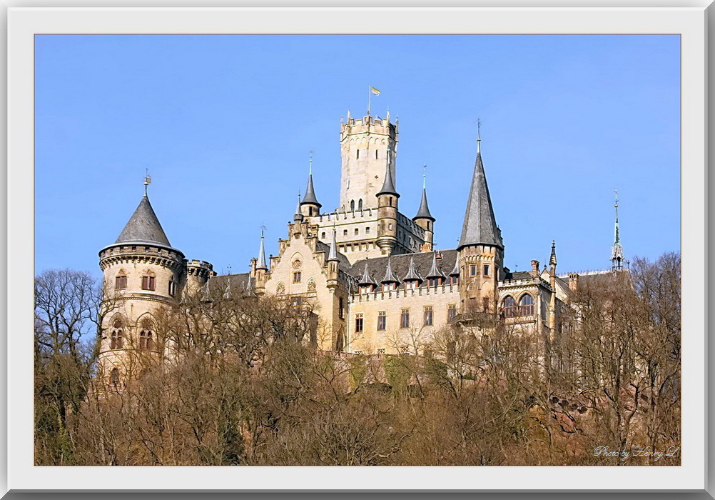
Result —
[{"label": "wide round stone tower with grey conical roof at far left", "polygon": [[119,388],[161,358],[163,312],[177,303],[185,278],[184,254],[169,243],[146,194],[117,241],[99,251],[99,267],[104,293],[98,376]]}]

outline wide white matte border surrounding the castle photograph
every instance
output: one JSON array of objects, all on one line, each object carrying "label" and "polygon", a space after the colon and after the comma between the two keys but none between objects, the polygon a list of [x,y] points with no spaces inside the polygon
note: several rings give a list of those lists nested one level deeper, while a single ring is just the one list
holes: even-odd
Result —
[{"label": "wide white matte border surrounding the castle photograph", "polygon": [[[9,488],[704,489],[705,12],[691,9],[9,9]],[[683,441],[679,467],[35,467],[32,465],[33,37],[36,33],[682,34]],[[674,138],[676,140],[676,138]],[[518,477],[518,481],[515,478]],[[279,479],[280,478],[280,479]]]}]

